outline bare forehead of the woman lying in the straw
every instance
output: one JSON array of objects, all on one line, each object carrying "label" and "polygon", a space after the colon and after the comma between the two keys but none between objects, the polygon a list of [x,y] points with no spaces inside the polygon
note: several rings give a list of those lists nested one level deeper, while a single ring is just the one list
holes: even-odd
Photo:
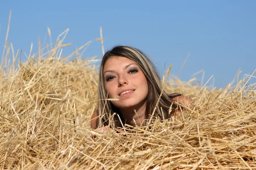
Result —
[{"label": "bare forehead of the woman lying in the straw", "polygon": [[103,67],[103,70],[108,70],[108,69],[112,69],[112,68],[123,68],[125,67],[126,65],[129,65],[129,64],[136,64],[136,62],[134,62],[133,60],[131,59],[128,59],[126,57],[111,57],[109,58],[106,62],[105,62],[105,65]]}]

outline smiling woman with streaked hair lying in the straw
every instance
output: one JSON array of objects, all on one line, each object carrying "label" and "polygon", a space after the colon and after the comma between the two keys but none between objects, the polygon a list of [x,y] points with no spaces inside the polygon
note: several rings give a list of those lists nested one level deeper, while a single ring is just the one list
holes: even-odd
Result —
[{"label": "smiling woman with streaked hair lying in the straw", "polygon": [[169,119],[180,113],[176,102],[186,106],[192,103],[189,97],[165,91],[160,97],[162,89],[156,68],[142,51],[129,46],[114,47],[105,53],[99,68],[99,110],[92,115],[91,127],[105,131],[109,126],[122,124],[147,125],[149,119]]}]

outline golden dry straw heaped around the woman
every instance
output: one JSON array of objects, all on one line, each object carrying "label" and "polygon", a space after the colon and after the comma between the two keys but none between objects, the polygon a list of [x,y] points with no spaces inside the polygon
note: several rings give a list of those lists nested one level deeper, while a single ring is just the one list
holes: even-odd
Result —
[{"label": "golden dry straw heaped around the woman", "polygon": [[133,136],[102,134],[90,128],[99,57],[81,59],[90,42],[64,55],[71,45],[62,43],[67,32],[39,45],[36,54],[6,41],[0,68],[1,169],[256,169],[256,84],[247,85],[250,76],[212,90],[195,79],[171,79],[166,90],[191,97],[193,110],[156,121],[150,130],[127,130]]}]

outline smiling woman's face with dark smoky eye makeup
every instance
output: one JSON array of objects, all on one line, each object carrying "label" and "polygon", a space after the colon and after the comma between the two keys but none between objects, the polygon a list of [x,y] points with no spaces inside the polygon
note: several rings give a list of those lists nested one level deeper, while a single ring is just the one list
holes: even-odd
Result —
[{"label": "smiling woman's face with dark smoky eye makeup", "polygon": [[117,108],[130,108],[145,104],[148,82],[140,67],[126,57],[111,57],[103,67],[105,89]]}]

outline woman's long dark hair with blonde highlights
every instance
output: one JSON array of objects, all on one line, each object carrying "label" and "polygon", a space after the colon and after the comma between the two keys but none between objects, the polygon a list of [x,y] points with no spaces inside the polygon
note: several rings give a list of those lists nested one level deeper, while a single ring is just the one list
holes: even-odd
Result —
[{"label": "woman's long dark hair with blonde highlights", "polygon": [[[103,77],[103,67],[105,62],[111,57],[126,57],[133,60],[143,71],[147,82],[148,82],[148,96],[146,99],[146,109],[145,109],[145,121],[144,125],[148,119],[150,119],[150,114],[153,113],[154,107],[157,104],[157,100],[160,96],[160,93],[163,89],[163,84],[160,79],[157,69],[151,60],[140,50],[129,47],[129,46],[116,46],[110,51],[107,51],[102,58],[102,62],[99,68],[99,86],[98,86],[98,97],[99,97],[99,121],[96,122],[96,127],[103,125],[109,125],[111,127],[121,127],[122,119],[119,108],[115,107],[111,101],[105,100],[108,98],[108,93],[105,90],[104,77]],[[160,97],[159,104],[155,111],[153,119],[168,119],[170,118],[169,107],[173,102],[172,98],[179,96],[180,94],[171,94],[168,95],[163,91],[162,96]],[[173,105],[173,108],[177,105]],[[161,111],[162,108],[162,111]],[[163,112],[163,113],[162,113]],[[119,115],[119,117],[117,116]],[[120,118],[120,119],[119,119]],[[110,121],[111,120],[111,121]],[[113,121],[112,121],[113,120]]]}]

